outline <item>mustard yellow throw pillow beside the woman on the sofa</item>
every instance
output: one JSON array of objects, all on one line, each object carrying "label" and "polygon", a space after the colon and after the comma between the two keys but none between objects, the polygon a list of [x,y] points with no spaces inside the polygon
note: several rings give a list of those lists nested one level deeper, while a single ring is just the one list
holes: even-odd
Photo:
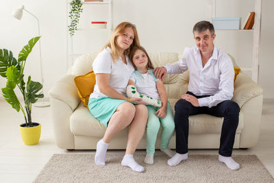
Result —
[{"label": "mustard yellow throw pillow beside the woman on the sofa", "polygon": [[88,108],[88,99],[90,98],[90,93],[93,92],[96,83],[95,73],[90,71],[85,75],[79,75],[74,78],[74,82],[80,99],[82,100],[84,106]]}]

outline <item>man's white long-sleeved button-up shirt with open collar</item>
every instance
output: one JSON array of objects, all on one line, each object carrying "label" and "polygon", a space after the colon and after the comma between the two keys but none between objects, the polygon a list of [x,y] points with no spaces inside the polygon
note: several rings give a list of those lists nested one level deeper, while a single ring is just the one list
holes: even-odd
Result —
[{"label": "man's white long-sleeved button-up shirt with open collar", "polygon": [[232,99],[234,91],[234,67],[227,54],[214,47],[211,58],[202,65],[198,47],[188,47],[181,60],[164,66],[168,74],[189,70],[188,91],[195,95],[211,95],[198,99],[199,106],[216,106]]}]

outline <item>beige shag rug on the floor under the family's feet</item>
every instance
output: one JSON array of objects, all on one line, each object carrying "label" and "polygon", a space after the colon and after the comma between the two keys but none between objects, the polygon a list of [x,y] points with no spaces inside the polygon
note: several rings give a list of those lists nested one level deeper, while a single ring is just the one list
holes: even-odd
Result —
[{"label": "beige shag rug on the floor under the family's feet", "polygon": [[176,167],[168,157],[155,154],[154,164],[145,164],[144,155],[135,160],[145,167],[136,173],[121,165],[122,153],[107,154],[106,166],[97,166],[94,154],[53,154],[34,182],[274,182],[255,155],[234,155],[240,169],[231,171],[217,155],[190,155]]}]

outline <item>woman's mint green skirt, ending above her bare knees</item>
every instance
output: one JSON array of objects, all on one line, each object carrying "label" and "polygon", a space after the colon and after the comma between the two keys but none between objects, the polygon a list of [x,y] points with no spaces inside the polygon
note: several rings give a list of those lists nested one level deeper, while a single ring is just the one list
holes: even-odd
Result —
[{"label": "woman's mint green skirt, ending above her bare knees", "polygon": [[112,114],[123,102],[125,100],[112,99],[110,97],[90,98],[88,100],[88,109],[96,119],[107,127]]}]

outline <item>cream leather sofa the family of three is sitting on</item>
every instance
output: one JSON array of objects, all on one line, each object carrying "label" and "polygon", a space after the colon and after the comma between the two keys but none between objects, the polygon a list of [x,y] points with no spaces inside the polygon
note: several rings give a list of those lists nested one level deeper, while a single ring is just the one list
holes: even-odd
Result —
[{"label": "cream leather sofa the family of three is sitting on", "polygon": [[[77,58],[71,69],[58,80],[49,91],[55,141],[61,149],[96,149],[97,141],[103,137],[103,126],[80,100],[73,78],[92,70],[92,61],[97,53],[87,53]],[[178,53],[149,54],[153,66],[164,66],[176,62],[182,57]],[[174,105],[188,90],[188,72],[179,75],[168,75],[164,79],[169,102]],[[260,135],[262,114],[262,88],[247,75],[240,73],[234,84],[234,97],[240,106],[238,129],[234,148],[254,147]],[[219,139],[223,118],[199,114],[190,117],[189,142],[190,149],[219,149]],[[160,147],[160,134],[156,141],[156,149]],[[116,134],[110,142],[109,149],[125,149],[127,129]],[[175,133],[169,147],[175,149]],[[143,136],[138,149],[145,149]]]}]

